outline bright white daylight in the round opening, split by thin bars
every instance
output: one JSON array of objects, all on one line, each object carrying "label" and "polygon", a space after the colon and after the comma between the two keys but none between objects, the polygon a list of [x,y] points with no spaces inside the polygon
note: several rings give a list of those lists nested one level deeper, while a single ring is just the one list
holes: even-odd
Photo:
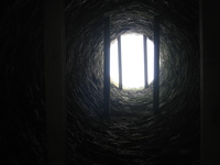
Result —
[{"label": "bright white daylight in the round opening, split by thin bars", "polygon": [[[147,38],[147,79],[148,84],[154,78],[154,44]],[[111,43],[110,77],[114,85],[119,85],[118,41]],[[144,54],[143,35],[121,35],[121,59],[122,59],[122,88],[144,88]]]}]

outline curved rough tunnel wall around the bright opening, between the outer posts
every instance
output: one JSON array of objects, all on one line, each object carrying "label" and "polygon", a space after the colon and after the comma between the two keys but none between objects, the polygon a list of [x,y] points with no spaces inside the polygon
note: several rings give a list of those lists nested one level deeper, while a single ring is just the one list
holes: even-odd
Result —
[{"label": "curved rough tunnel wall around the bright opening, between the outer posts", "polygon": [[[69,4],[66,13],[69,158],[110,164],[198,162],[198,2],[85,2]],[[161,114],[153,114],[153,85],[141,91],[111,85],[110,118],[105,120],[103,19],[110,16],[111,41],[129,32],[153,40],[154,15],[161,19]],[[80,156],[74,156],[78,152]]]}]

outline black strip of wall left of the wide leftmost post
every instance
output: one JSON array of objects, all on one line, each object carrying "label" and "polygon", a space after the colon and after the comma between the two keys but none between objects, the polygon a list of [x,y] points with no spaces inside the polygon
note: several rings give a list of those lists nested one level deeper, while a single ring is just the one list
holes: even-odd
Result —
[{"label": "black strip of wall left of the wide leftmost post", "polygon": [[45,164],[43,3],[1,6],[0,164]]}]

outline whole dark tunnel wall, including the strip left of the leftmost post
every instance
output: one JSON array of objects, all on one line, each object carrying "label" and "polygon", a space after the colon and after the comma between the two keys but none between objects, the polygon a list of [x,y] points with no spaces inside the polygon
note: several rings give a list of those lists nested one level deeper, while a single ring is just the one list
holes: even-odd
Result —
[{"label": "whole dark tunnel wall, including the strip left of the leftmost post", "polygon": [[[1,148],[8,164],[46,164],[43,2],[6,1],[1,21]],[[161,21],[160,114],[153,85],[111,84],[103,111],[103,18],[111,41],[153,34]],[[68,164],[198,165],[200,74],[198,0],[66,0]]]}]

